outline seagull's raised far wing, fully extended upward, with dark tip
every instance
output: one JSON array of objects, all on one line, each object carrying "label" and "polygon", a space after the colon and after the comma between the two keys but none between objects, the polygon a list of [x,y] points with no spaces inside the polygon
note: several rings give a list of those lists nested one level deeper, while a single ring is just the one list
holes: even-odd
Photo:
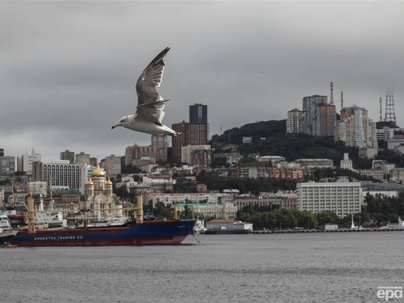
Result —
[{"label": "seagull's raised far wing, fully extended upward, with dark tip", "polygon": [[163,100],[157,93],[156,87],[160,86],[164,72],[164,56],[170,50],[169,47],[164,49],[156,56],[145,70],[140,74],[136,83],[137,104],[151,104]]}]

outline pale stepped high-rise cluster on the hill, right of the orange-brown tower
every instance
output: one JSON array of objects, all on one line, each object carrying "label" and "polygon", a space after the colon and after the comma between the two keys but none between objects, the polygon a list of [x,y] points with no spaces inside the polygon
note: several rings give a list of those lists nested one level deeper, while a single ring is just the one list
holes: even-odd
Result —
[{"label": "pale stepped high-rise cluster on the hill, right of the orange-brown tower", "polygon": [[337,122],[335,141],[345,145],[377,148],[376,122],[368,118],[368,111],[356,105],[341,110],[341,120]]}]

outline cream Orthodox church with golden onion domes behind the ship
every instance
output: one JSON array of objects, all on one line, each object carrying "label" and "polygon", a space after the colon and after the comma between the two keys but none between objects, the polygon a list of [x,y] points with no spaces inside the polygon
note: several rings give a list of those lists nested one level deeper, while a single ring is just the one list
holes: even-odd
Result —
[{"label": "cream Orthodox church with golden onion domes behind the ship", "polygon": [[[97,210],[101,209],[101,217],[105,219],[122,217],[122,210],[107,210],[108,208],[122,208],[116,205],[112,195],[112,182],[105,178],[105,172],[101,170],[99,163],[91,173],[91,178],[84,183],[85,201],[80,201],[80,209],[89,209],[93,217],[97,217]],[[87,214],[91,216],[90,213]]]}]

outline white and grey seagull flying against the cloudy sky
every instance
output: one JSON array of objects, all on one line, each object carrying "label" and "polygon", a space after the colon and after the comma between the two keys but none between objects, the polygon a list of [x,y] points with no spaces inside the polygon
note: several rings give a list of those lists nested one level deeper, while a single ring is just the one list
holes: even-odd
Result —
[{"label": "white and grey seagull flying against the cloudy sky", "polygon": [[163,99],[156,90],[160,86],[164,72],[163,58],[167,55],[169,47],[156,56],[145,70],[140,74],[136,83],[137,107],[134,115],[122,117],[112,129],[117,126],[135,130],[151,135],[169,135],[177,137],[175,130],[161,123],[164,117],[164,106],[166,99]]}]

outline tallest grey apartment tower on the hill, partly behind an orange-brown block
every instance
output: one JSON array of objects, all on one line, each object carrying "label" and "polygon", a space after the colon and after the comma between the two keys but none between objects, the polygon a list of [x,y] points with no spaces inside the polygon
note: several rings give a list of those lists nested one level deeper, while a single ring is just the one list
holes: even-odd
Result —
[{"label": "tallest grey apartment tower on the hill, partly behind an orange-brown block", "polygon": [[316,136],[320,133],[318,105],[327,104],[327,96],[313,95],[303,98],[303,112],[306,113],[306,133]]}]

